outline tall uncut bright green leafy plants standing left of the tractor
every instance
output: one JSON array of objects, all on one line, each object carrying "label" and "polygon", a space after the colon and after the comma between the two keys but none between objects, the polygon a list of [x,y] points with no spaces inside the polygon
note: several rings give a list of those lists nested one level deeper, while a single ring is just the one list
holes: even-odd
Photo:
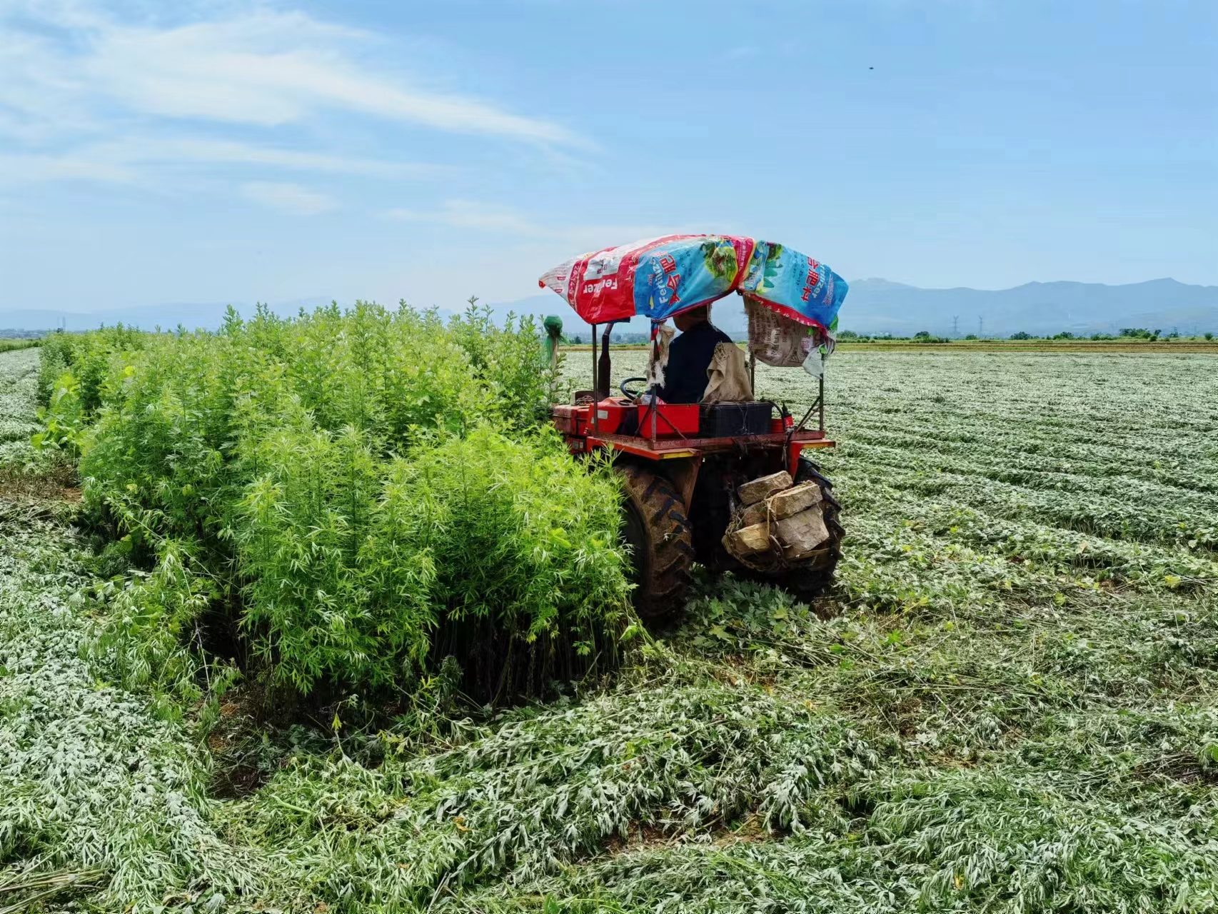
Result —
[{"label": "tall uncut bright green leafy plants standing left of the tractor", "polygon": [[160,661],[124,667],[168,669],[166,632],[217,614],[300,692],[393,689],[453,654],[507,698],[580,671],[560,659],[577,643],[611,653],[616,490],[538,430],[553,378],[531,319],[259,310],[43,356],[60,375],[39,440],[79,447],[94,522],[153,569],[106,643]]}]

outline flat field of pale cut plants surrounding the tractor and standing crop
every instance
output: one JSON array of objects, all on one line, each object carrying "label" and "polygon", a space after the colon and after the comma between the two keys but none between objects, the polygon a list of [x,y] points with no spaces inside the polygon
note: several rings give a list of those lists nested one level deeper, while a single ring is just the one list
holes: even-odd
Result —
[{"label": "flat field of pale cut plants surrounding the tractor and standing crop", "polygon": [[[840,352],[837,591],[704,576],[615,678],[492,713],[158,691],[107,648],[139,574],[5,490],[0,912],[1213,910],[1216,369]],[[55,472],[37,372],[0,356],[13,476]]]}]

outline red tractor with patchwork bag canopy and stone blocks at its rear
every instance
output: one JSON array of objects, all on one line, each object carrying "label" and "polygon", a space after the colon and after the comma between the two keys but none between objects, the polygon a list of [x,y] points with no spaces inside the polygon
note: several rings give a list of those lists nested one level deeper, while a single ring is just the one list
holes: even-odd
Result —
[{"label": "red tractor with patchwork bag canopy and stone blocks at its rear", "polygon": [[[693,297],[693,301],[685,307],[680,307],[680,300],[670,302],[677,307],[669,307],[663,316],[658,316],[655,307],[648,311],[637,306],[625,313],[626,305],[605,295],[607,261],[615,268],[609,275],[616,283],[608,291],[625,290],[619,299],[635,305],[641,299],[639,286],[646,275],[659,272],[663,280],[665,271],[677,272],[669,268],[670,261],[682,266],[680,258],[672,256],[674,251],[680,253],[692,246],[700,266],[711,262],[714,251],[706,253],[708,245],[722,250],[725,244],[741,240],[725,243],[723,239],[669,236],[628,245],[626,255],[620,253],[624,249],[609,249],[561,264],[542,278],[542,285],[565,294],[581,317],[592,324],[592,386],[577,391],[574,403],[553,407],[553,422],[574,455],[608,452],[621,475],[625,490],[622,536],[631,547],[635,607],[644,620],[661,620],[681,609],[694,562],[715,573],[733,572],[770,581],[809,598],[831,584],[840,556],[840,506],[833,497],[829,480],[805,455],[833,446],[825,435],[822,372],[818,372],[816,400],[798,422],[786,406],[766,400],[665,403],[658,396],[660,388],[653,368],[661,356],[661,334],[657,330],[664,317],[700,307],[732,290],[745,295],[750,306],[764,306],[789,322],[795,328],[797,346],[803,346],[799,357],[816,358],[823,366],[825,344],[832,345],[832,335],[826,329],[829,321],[822,324],[801,311],[780,310],[771,300],[750,295],[755,288],[750,290],[745,284],[747,267],[750,260],[758,260],[758,246],[766,243],[743,239],[750,245],[734,244],[742,261],[734,275],[728,275],[726,282],[720,275],[719,286],[713,286],[709,294],[702,290],[702,295],[687,295],[686,299]],[[762,268],[772,266],[775,260],[767,257],[770,247],[760,255]],[[780,247],[780,253],[784,252],[789,249]],[[800,258],[800,266],[815,263],[803,255],[789,253]],[[687,275],[694,272],[685,264]],[[720,273],[731,271],[723,268]],[[836,301],[839,305],[845,283],[827,269],[823,273],[832,278],[828,279],[831,284],[834,279],[840,283]],[[722,290],[725,284],[727,288]],[[580,297],[580,291],[590,288],[596,292],[591,305]],[[771,284],[771,294],[772,289]],[[654,305],[654,292],[650,294]],[[598,305],[602,306],[599,311]],[[596,317],[608,313],[615,319],[625,319],[637,311],[652,318],[648,367],[652,380],[626,379],[620,385],[621,395],[613,396],[609,356],[613,322],[602,324],[598,340]],[[551,318],[547,324],[553,328],[553,322]],[[750,338],[753,323],[750,311]],[[772,321],[770,325],[772,328]],[[784,331],[790,330],[786,323],[782,327]],[[762,361],[770,361],[765,357],[766,350],[760,351]],[[755,377],[758,352],[750,341],[749,388]]]}]

